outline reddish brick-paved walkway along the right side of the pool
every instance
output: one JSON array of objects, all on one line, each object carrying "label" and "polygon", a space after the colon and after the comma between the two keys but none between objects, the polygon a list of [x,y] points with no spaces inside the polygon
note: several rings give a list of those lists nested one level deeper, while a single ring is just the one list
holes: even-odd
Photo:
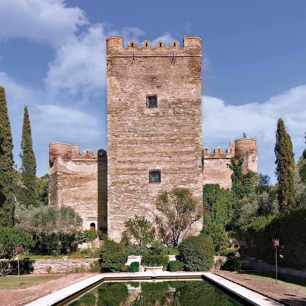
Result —
[{"label": "reddish brick-paved walkway along the right side of the pool", "polygon": [[287,306],[305,306],[306,292],[270,283],[247,274],[239,274],[229,271],[212,271],[212,273],[226,278],[247,289],[262,294]]}]

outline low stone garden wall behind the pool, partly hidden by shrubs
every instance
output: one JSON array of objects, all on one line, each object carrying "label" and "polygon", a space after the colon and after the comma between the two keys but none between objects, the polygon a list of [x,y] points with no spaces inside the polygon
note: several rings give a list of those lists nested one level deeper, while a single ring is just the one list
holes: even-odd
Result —
[{"label": "low stone garden wall behind the pool, partly hidden by shrubs", "polygon": [[[214,261],[218,258],[224,258],[223,256],[214,256]],[[79,258],[68,260],[68,272],[69,273],[83,273],[90,272],[90,264],[99,258]],[[179,256],[169,255],[169,261],[179,260]],[[129,256],[126,265],[130,265],[132,262],[137,261],[140,264],[141,256]],[[33,259],[34,272],[33,274],[47,274],[47,273],[66,273],[67,259]],[[139,266],[139,271],[144,271],[143,266]]]}]

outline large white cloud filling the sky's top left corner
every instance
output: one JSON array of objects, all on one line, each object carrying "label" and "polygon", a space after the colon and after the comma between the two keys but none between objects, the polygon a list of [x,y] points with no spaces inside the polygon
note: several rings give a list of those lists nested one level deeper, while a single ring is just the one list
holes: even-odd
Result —
[{"label": "large white cloud filling the sky's top left corner", "polygon": [[59,47],[88,24],[78,7],[64,0],[1,0],[0,39],[26,38]]}]

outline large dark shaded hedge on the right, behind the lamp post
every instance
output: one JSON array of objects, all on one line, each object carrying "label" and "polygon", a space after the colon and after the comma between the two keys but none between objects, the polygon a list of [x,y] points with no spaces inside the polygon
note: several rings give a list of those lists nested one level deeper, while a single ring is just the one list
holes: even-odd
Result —
[{"label": "large dark shaded hedge on the right, behind the lamp post", "polygon": [[241,235],[249,256],[274,264],[275,248],[272,238],[279,238],[278,263],[294,269],[306,268],[306,209],[292,211],[289,215],[259,217],[243,226]]}]

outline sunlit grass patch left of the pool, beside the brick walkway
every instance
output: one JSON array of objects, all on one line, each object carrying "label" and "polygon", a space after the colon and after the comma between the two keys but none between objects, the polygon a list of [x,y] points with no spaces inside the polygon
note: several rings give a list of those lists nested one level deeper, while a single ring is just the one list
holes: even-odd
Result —
[{"label": "sunlit grass patch left of the pool, beside the brick walkway", "polygon": [[[33,285],[38,285],[53,279],[61,278],[63,276],[65,275],[20,275],[20,288],[22,289]],[[0,289],[19,289],[18,275],[0,277]]]}]

